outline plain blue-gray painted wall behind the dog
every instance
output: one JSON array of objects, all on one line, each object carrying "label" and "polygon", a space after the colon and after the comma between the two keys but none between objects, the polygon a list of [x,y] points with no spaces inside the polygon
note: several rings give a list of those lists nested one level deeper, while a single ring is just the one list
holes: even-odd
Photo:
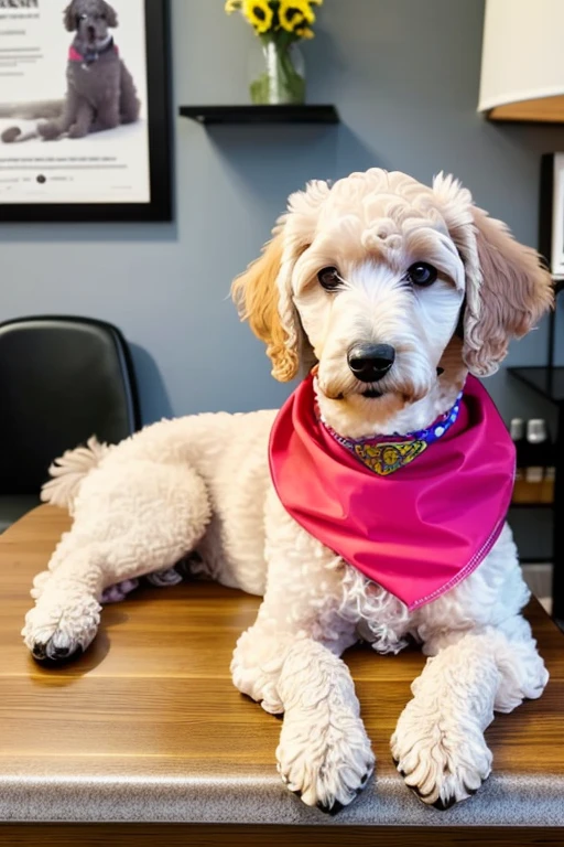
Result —
[{"label": "plain blue-gray painted wall behind the dog", "polygon": [[[246,101],[258,49],[249,28],[224,14],[223,0],[172,6],[174,104]],[[133,345],[145,420],[246,410],[278,405],[289,388],[239,325],[229,282],[306,180],[373,165],[425,182],[452,171],[535,244],[539,157],[564,148],[564,130],[494,126],[476,114],[482,14],[481,0],[326,0],[304,52],[310,99],[335,103],[340,127],[206,132],[175,118],[176,223],[2,226],[1,318],[117,323]],[[543,364],[545,347],[542,326],[510,363]],[[536,404],[505,374],[490,388],[506,416]]]}]

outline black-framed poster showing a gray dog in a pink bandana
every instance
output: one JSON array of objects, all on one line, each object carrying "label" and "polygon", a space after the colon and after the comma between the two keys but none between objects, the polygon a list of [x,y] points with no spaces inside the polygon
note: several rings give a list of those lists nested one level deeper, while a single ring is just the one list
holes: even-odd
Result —
[{"label": "black-framed poster showing a gray dog in a pink bandana", "polygon": [[170,221],[166,0],[0,0],[0,222]]}]

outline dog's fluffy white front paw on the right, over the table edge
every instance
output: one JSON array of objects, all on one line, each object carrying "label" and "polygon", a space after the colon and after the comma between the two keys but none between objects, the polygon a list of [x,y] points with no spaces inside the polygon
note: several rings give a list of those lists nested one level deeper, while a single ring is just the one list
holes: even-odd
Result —
[{"label": "dog's fluffy white front paw on the right, over the table edge", "polygon": [[475,719],[421,707],[415,697],[391,739],[405,784],[429,805],[448,808],[475,794],[491,771],[491,752]]}]

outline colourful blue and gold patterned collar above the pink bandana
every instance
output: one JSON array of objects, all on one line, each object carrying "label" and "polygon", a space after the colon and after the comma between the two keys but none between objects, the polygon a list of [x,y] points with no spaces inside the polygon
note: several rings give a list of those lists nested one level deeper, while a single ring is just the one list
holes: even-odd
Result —
[{"label": "colourful blue and gold patterned collar above the pink bandana", "polygon": [[[417,455],[438,441],[451,427],[456,424],[458,412],[460,411],[460,400],[463,392],[456,398],[453,408],[441,415],[426,429],[420,429],[416,432],[409,432],[406,436],[395,433],[393,436],[372,436],[371,438],[361,438],[357,440],[344,438],[335,432],[332,427],[322,420],[323,426],[339,444],[350,450],[362,464],[370,468],[379,476],[389,476],[390,473],[398,471],[405,464],[410,464]],[[398,440],[401,439],[401,440]]]}]

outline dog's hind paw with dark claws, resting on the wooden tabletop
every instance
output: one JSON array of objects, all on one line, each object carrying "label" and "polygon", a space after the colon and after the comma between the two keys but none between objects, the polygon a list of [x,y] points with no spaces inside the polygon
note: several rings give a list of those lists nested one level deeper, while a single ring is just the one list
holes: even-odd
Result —
[{"label": "dog's hind paw with dark claws, resting on the wooden tabletop", "polygon": [[94,640],[100,610],[90,596],[75,598],[73,605],[66,607],[45,592],[25,615],[23,641],[39,662],[66,662]]}]

